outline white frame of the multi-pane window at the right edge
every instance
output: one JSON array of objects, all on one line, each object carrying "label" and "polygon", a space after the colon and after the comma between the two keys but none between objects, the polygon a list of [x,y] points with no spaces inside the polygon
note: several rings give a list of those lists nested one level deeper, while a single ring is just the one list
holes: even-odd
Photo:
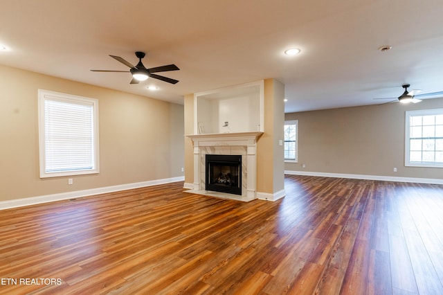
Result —
[{"label": "white frame of the multi-pane window at the right edge", "polygon": [[[443,168],[443,162],[417,162],[410,161],[410,118],[414,116],[433,116],[443,115],[443,108],[440,109],[419,109],[405,112],[405,161],[406,167],[426,167],[426,168]],[[436,137],[428,137],[436,138]]]}]

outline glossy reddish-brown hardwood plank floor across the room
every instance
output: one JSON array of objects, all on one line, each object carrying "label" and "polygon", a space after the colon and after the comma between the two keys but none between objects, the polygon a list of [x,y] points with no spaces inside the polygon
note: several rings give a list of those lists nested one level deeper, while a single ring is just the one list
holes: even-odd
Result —
[{"label": "glossy reddish-brown hardwood plank floor across the room", "polygon": [[443,294],[443,186],[287,176],[286,197],[249,203],[182,187],[0,211],[0,294]]}]

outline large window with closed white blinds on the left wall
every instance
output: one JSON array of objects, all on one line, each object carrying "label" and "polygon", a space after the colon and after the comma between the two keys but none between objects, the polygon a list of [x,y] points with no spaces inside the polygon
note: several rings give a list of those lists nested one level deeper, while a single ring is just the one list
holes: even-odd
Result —
[{"label": "large window with closed white blinds on the left wall", "polygon": [[98,173],[98,100],[39,89],[40,177]]}]

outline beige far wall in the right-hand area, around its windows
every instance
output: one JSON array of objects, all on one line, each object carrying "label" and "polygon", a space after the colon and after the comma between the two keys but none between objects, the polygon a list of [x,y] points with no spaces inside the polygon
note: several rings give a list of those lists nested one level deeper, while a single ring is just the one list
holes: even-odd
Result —
[{"label": "beige far wall in the right-hand area, around its windows", "polygon": [[298,163],[285,170],[442,179],[442,168],[404,166],[405,111],[440,107],[443,98],[286,114],[299,126]]}]

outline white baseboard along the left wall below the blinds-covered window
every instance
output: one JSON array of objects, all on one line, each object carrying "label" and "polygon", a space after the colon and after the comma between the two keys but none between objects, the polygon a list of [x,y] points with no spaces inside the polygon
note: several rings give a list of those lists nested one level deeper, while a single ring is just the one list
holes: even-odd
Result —
[{"label": "white baseboard along the left wall below the blinds-covered window", "polygon": [[103,193],[113,193],[119,190],[130,190],[132,188],[143,188],[145,186],[156,186],[158,184],[169,184],[176,181],[184,181],[185,177],[172,177],[165,179],[157,179],[151,181],[141,181],[134,184],[120,184],[117,186],[105,186],[103,188],[91,188],[89,190],[76,190],[73,192],[57,193],[53,195],[42,195],[37,197],[26,197],[23,199],[11,199],[0,202],[0,210],[16,208],[21,206],[30,206],[43,204],[48,202],[62,201],[64,199],[73,199],[78,197],[87,197],[90,195],[98,195]]}]

